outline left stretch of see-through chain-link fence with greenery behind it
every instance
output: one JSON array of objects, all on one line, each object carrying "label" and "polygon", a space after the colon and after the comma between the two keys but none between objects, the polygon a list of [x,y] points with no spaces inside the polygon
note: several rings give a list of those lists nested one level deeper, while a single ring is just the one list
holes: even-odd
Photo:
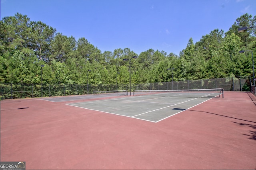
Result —
[{"label": "left stretch of see-through chain-link fence with greenery behind it", "polygon": [[1,84],[1,99],[82,95],[94,90],[128,90],[128,84]]}]

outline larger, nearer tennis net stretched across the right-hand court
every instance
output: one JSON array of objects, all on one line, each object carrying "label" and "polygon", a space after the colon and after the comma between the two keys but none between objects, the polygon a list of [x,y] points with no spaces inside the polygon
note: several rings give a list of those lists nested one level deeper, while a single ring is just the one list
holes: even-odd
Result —
[{"label": "larger, nearer tennis net stretched across the right-hand court", "polygon": [[160,96],[184,98],[224,98],[222,88],[192,90],[134,90],[135,96]]}]

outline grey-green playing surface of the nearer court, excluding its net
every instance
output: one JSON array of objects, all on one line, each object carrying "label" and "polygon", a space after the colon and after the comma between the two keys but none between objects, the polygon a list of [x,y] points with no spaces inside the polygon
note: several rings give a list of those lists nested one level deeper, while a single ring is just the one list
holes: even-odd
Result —
[{"label": "grey-green playing surface of the nearer court, excluding its net", "polygon": [[[80,102],[67,105],[142,119],[145,121],[159,122],[210,99],[160,96],[128,96],[124,98]],[[214,98],[214,100],[221,99],[222,98]]]}]

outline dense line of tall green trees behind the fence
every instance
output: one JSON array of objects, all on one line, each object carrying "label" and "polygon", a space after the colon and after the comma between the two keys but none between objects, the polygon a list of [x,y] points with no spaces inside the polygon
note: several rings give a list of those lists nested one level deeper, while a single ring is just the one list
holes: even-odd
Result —
[{"label": "dense line of tall green trees behind the fence", "polygon": [[[133,84],[252,76],[251,53],[256,53],[256,16],[244,14],[227,32],[214,29],[179,55],[148,49],[140,54],[129,48],[100,51],[85,37],[77,41],[42,21],[26,15],[0,21],[0,82],[44,84]],[[255,59],[254,59],[255,61]],[[42,69],[42,74],[41,74]],[[90,70],[90,71],[88,71]]]}]

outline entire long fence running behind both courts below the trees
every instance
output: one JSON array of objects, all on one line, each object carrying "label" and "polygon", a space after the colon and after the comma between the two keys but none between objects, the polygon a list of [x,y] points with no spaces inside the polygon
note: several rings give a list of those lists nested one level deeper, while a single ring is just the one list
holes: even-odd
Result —
[{"label": "entire long fence running behind both courts below the trees", "polygon": [[[132,84],[134,90],[190,90],[223,88],[225,91],[252,91],[250,77],[216,78]],[[1,84],[1,100],[92,94],[96,90],[128,90],[129,84]]]}]

